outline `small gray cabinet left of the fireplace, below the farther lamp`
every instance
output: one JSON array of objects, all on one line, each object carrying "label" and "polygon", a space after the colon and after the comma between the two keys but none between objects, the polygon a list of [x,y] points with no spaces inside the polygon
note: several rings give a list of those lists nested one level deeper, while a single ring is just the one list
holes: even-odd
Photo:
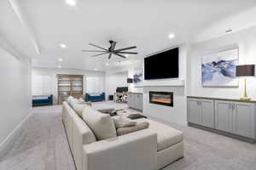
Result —
[{"label": "small gray cabinet left of the fireplace, below the farther lamp", "polygon": [[143,94],[129,93],[127,105],[131,109],[143,111]]}]

